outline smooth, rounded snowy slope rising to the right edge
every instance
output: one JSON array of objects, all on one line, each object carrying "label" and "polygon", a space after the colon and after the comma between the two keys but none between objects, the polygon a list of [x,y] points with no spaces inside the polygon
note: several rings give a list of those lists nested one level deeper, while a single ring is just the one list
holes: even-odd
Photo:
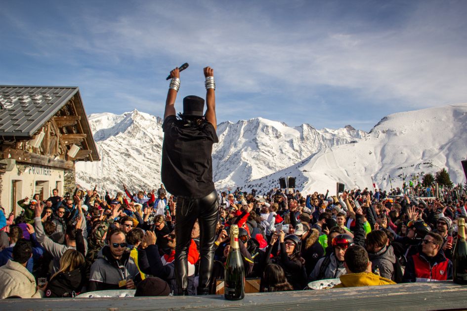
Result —
[{"label": "smooth, rounded snowy slope rising to the right edge", "polygon": [[[401,187],[414,176],[447,168],[454,183],[465,181],[461,160],[467,155],[467,103],[397,113],[382,120],[357,143],[324,148],[298,163],[245,185],[260,193],[277,187],[279,177],[295,176],[297,189],[336,192],[347,189]],[[407,177],[408,175],[408,177]],[[388,178],[391,177],[391,179]]]}]

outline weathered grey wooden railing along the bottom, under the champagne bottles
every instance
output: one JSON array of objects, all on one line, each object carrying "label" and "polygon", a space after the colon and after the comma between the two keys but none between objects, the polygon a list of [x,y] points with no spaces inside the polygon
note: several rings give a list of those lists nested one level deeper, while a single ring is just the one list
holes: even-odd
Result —
[{"label": "weathered grey wooden railing along the bottom, under the champagne bottles", "polygon": [[0,310],[453,310],[467,309],[467,286],[450,281],[246,294],[127,298],[3,299]]}]

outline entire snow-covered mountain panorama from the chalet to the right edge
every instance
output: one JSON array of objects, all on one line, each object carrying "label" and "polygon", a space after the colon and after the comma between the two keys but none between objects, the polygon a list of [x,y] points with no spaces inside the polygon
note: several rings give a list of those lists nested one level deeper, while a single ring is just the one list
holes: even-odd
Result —
[{"label": "entire snow-covered mountain panorama from the chalet to the right edge", "polygon": [[[89,116],[102,160],[78,162],[77,182],[116,191],[159,188],[162,119],[136,110],[123,115]],[[261,117],[217,126],[213,177],[217,189],[260,191],[277,187],[279,177],[295,176],[297,189],[334,192],[346,188],[402,186],[404,174],[446,167],[463,182],[460,161],[467,155],[467,104],[429,108],[383,117],[370,133],[350,125],[317,130],[309,124],[289,127]],[[410,177],[409,177],[410,178]]]}]

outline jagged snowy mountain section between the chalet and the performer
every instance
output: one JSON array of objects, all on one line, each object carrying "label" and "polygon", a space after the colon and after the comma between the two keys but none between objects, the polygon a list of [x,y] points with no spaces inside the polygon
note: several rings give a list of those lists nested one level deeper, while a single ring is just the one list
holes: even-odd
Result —
[{"label": "jagged snowy mountain section between the chalet and the performer", "polygon": [[122,191],[159,188],[161,181],[162,119],[134,110],[117,116],[89,116],[101,161],[78,162],[76,181],[88,189]]}]

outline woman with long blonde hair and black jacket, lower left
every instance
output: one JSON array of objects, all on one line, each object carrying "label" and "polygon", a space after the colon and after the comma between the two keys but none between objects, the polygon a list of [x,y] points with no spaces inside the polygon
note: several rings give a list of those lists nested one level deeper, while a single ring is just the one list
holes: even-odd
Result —
[{"label": "woman with long blonde hair and black jacket, lower left", "polygon": [[60,258],[60,270],[53,274],[45,289],[45,297],[74,297],[85,284],[85,257],[68,249]]}]

